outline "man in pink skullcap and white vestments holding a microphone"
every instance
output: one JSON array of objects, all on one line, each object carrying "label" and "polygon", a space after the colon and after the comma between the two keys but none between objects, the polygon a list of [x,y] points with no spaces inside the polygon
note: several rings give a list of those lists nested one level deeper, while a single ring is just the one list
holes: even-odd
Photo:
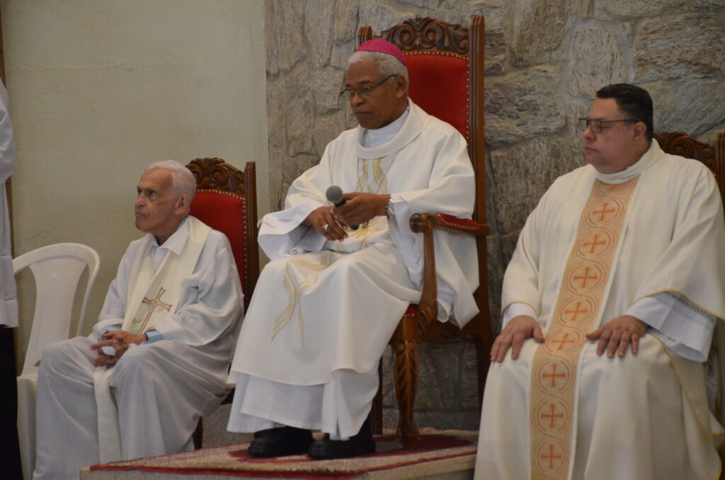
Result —
[{"label": "man in pink skullcap and white vestments holding a microphone", "polygon": [[[465,140],[407,98],[399,49],[369,41],[348,65],[343,94],[360,125],[292,183],[285,210],[262,220],[260,245],[273,260],[254,289],[232,363],[228,423],[230,431],[272,429],[249,447],[258,457],[374,451],[365,419],[378,360],[421,297],[422,240],[410,231],[410,215],[473,211]],[[333,185],[350,192],[347,203],[326,200]],[[463,324],[477,312],[475,243],[437,234],[436,265],[440,320]],[[310,430],[326,435],[312,444]]]}]

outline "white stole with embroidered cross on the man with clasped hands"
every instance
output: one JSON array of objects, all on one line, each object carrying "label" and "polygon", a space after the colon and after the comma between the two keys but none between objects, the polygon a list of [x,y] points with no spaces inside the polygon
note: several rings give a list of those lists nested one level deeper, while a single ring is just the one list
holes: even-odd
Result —
[{"label": "white stole with embroidered cross on the man with clasped hands", "polygon": [[[194,273],[207,236],[212,230],[196,218],[186,217],[188,238],[181,254],[167,251],[159,268],[154,268],[154,236],[146,234],[133,258],[128,274],[128,297],[121,329],[141,334],[154,328],[168,313],[173,313],[181,299],[181,281]],[[113,368],[97,367],[94,372],[96,410],[98,413],[99,460],[121,460],[118,409],[109,391]]]}]

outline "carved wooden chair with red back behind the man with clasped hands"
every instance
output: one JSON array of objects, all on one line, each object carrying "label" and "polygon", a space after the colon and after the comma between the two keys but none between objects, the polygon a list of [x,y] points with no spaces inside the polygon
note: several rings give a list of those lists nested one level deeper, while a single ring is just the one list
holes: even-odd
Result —
[{"label": "carved wooden chair with red back behind the man with clasped hands", "polygon": [[[260,276],[257,248],[257,183],[254,162],[247,162],[244,171],[220,158],[198,158],[186,165],[196,178],[196,195],[191,202],[191,215],[211,228],[224,233],[231,244],[241,290],[244,311],[252,298]],[[223,403],[230,403],[229,394]],[[194,431],[194,447],[202,447],[202,419]]]}]

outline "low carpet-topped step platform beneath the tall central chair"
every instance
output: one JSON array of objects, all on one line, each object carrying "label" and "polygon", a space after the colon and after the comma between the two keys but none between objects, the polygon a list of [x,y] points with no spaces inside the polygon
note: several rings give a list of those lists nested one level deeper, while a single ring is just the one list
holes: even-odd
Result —
[{"label": "low carpet-topped step platform beneath the tall central chair", "polygon": [[339,460],[307,455],[252,458],[249,442],[83,468],[80,480],[473,479],[475,431],[421,430],[415,450],[392,433],[378,435],[376,453]]}]

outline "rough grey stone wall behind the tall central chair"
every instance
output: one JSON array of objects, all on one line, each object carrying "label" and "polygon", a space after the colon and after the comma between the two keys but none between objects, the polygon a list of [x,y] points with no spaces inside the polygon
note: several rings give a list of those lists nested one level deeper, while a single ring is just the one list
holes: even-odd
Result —
[{"label": "rough grey stone wall behind the tall central chair", "polygon": [[[547,186],[583,163],[576,118],[608,83],[641,85],[656,131],[712,142],[725,131],[724,0],[267,0],[270,205],[355,126],[337,93],[357,28],[413,16],[468,24],[486,17],[489,295],[500,322],[501,279],[526,216]],[[476,429],[475,349],[420,349],[419,426]],[[384,357],[386,426],[397,419]]]}]

